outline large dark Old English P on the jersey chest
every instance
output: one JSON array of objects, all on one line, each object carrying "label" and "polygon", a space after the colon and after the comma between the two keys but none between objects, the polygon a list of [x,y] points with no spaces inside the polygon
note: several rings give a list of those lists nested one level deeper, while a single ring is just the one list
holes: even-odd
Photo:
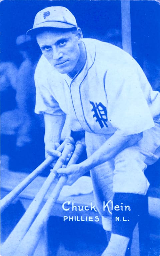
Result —
[{"label": "large dark Old English P on the jersey chest", "polygon": [[92,101],[89,101],[89,102],[93,106],[92,108],[92,112],[94,112],[93,118],[94,117],[96,118],[96,122],[99,122],[99,125],[101,126],[101,128],[103,128],[104,125],[108,127],[107,108],[101,102],[99,102],[99,104],[97,104],[97,102],[95,104]]}]

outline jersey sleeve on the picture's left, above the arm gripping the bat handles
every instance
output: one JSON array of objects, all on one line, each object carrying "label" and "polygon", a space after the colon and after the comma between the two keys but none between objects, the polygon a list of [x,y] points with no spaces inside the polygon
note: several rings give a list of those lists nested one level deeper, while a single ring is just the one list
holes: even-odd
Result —
[{"label": "jersey sleeve on the picture's left, above the arm gripping the bat handles", "polygon": [[42,70],[42,68],[37,66],[34,79],[36,86],[35,113],[47,113],[53,115],[64,114],[53,96],[44,69]]}]

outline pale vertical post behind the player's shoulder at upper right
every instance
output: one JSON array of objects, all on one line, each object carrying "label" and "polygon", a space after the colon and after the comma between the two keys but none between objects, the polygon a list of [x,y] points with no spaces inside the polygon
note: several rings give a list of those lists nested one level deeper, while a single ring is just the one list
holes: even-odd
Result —
[{"label": "pale vertical post behind the player's shoulder at upper right", "polygon": [[122,47],[132,56],[130,1],[121,0]]}]

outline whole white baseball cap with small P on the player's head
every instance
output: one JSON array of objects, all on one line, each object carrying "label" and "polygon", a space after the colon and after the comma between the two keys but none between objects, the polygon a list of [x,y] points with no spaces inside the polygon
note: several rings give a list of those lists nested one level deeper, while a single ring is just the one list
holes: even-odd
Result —
[{"label": "whole white baseball cap with small P on the player's head", "polygon": [[77,22],[73,14],[63,6],[51,6],[39,11],[34,19],[33,28],[27,31],[31,34],[36,29],[52,28],[73,28],[77,27]]}]

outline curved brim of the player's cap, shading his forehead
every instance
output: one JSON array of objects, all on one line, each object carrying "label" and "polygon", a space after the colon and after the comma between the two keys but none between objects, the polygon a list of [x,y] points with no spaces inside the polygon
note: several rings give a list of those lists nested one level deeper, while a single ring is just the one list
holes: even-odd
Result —
[{"label": "curved brim of the player's cap, shading his forehead", "polygon": [[59,22],[59,21],[47,21],[47,22],[40,23],[35,27],[29,29],[26,34],[31,35],[33,33],[37,33],[38,30],[43,28],[62,28],[63,29],[63,28],[74,28],[74,27],[77,27],[77,26],[69,23]]}]

